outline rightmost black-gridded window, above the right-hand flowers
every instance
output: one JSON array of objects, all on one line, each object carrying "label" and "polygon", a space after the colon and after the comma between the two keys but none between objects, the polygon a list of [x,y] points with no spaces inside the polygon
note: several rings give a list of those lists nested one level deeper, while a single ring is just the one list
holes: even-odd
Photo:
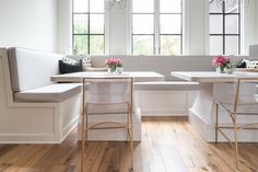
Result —
[{"label": "rightmost black-gridded window, above the right-hand flowers", "polygon": [[210,1],[210,54],[241,54],[241,1]]}]

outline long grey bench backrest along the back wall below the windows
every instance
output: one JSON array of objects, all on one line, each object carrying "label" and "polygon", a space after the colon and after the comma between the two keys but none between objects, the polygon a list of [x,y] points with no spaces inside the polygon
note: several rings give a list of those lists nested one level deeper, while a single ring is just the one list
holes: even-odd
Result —
[{"label": "long grey bench backrest along the back wall below the windows", "polygon": [[[80,59],[80,56],[70,56]],[[178,80],[171,76],[172,71],[214,71],[211,61],[214,56],[91,56],[93,67],[104,67],[108,57],[119,57],[126,71],[156,71],[165,76],[165,80]],[[244,56],[231,57],[237,64]],[[251,57],[248,57],[251,59]]]}]

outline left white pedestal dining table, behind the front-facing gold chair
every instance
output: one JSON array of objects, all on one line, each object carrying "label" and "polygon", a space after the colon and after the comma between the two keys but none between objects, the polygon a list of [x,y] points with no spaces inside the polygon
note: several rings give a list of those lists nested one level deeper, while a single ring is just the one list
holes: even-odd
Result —
[{"label": "left white pedestal dining table, behind the front-facing gold chair", "polygon": [[[133,78],[134,82],[149,82],[149,81],[164,81],[165,77],[163,74],[160,74],[154,71],[125,71],[122,73],[107,73],[107,72],[73,72],[73,73],[67,73],[67,74],[57,74],[51,77],[51,81],[54,82],[83,82],[83,78]],[[133,140],[140,141],[141,140],[141,111],[139,105],[139,99],[138,99],[138,91],[133,91]],[[118,115],[108,115],[107,118],[95,117],[93,119],[89,119],[89,123],[94,122],[103,122],[108,118],[115,118],[117,121],[120,121],[121,117]],[[114,135],[114,131],[116,131],[116,135]],[[127,135],[125,134],[125,130],[91,130],[89,133],[89,140],[127,140]],[[81,139],[81,123],[79,123],[79,129],[78,129],[78,139]]]}]

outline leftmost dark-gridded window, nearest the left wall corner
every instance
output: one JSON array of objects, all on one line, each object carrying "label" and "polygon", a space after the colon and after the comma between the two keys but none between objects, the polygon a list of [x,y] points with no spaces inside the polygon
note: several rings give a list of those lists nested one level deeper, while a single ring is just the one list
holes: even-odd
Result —
[{"label": "leftmost dark-gridded window, nearest the left wall corner", "polygon": [[105,54],[104,0],[73,0],[72,9],[74,54]]}]

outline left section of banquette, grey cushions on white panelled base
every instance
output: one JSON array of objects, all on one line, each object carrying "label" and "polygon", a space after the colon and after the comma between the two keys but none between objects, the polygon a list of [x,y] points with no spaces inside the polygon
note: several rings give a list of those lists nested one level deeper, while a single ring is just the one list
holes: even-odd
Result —
[{"label": "left section of banquette, grey cushions on white panelled base", "polygon": [[0,142],[61,142],[77,126],[81,84],[52,83],[62,55],[0,48]]}]

